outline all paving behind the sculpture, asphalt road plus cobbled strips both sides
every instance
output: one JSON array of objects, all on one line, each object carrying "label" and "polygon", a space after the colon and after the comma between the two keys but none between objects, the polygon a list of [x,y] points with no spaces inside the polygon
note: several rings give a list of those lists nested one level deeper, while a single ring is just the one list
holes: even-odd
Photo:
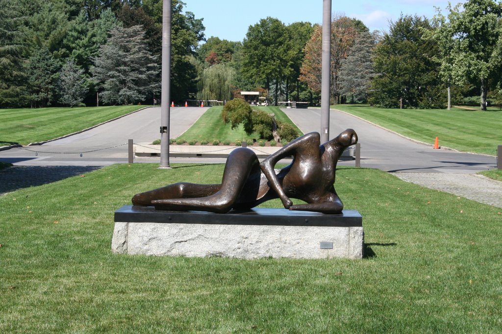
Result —
[{"label": "all paving behind the sculpture, asphalt road plus cobbled strips both sides", "polygon": [[[171,137],[183,133],[206,110],[207,108],[171,108]],[[319,131],[319,109],[284,109],[284,111],[304,133]],[[160,108],[149,108],[75,136],[30,147],[30,150],[41,151],[37,156],[26,149],[2,151],[0,161],[16,163],[17,166],[0,171],[0,194],[86,173],[97,168],[96,166],[127,162],[127,147],[123,144],[130,138],[138,144],[151,143],[159,138],[159,126]],[[395,172],[396,176],[406,181],[465,196],[482,203],[499,207],[502,205],[500,203],[502,182],[480,179],[479,176],[470,174],[495,168],[494,157],[434,150],[431,146],[412,142],[334,110],[330,115],[330,127],[331,138],[346,128],[357,131],[361,143],[363,167]],[[101,150],[115,145],[120,146]],[[42,151],[77,153],[54,154]],[[78,152],[85,151],[94,152],[83,153],[80,157]],[[159,158],[137,158],[135,161],[158,162]],[[172,158],[171,161],[196,160]],[[203,161],[222,163],[224,159],[204,158]],[[353,161],[339,162],[339,165],[353,164]]]}]

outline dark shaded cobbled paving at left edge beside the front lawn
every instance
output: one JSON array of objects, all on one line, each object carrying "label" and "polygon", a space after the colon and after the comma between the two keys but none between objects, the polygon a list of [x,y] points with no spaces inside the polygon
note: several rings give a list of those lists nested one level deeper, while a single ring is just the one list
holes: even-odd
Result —
[{"label": "dark shaded cobbled paving at left edge beside the front lawn", "polygon": [[100,166],[13,166],[0,170],[0,195],[92,172]]}]

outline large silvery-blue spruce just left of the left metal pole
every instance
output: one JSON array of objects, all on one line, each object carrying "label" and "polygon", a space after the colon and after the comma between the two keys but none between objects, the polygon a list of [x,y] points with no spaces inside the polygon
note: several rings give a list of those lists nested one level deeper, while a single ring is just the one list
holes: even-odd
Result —
[{"label": "large silvery-blue spruce just left of the left metal pole", "polygon": [[144,34],[140,26],[116,27],[100,48],[91,72],[102,89],[99,96],[104,103],[136,103],[159,91],[159,66],[146,48]]}]

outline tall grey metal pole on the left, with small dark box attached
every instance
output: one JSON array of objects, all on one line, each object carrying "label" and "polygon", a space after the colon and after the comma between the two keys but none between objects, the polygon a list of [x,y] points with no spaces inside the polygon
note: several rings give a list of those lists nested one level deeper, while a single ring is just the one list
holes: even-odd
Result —
[{"label": "tall grey metal pole on the left, with small dark box attached", "polygon": [[162,3],[162,93],[160,127],[160,168],[169,166],[169,118],[171,97],[171,0]]}]

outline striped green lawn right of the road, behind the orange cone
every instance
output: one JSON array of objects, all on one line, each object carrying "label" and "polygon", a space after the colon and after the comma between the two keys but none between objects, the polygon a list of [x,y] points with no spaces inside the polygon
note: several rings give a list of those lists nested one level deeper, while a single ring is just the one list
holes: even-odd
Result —
[{"label": "striped green lawn right of the road, behind the orange cone", "polygon": [[502,145],[502,111],[384,109],[363,105],[336,105],[367,121],[425,143],[459,151],[496,155]]}]

